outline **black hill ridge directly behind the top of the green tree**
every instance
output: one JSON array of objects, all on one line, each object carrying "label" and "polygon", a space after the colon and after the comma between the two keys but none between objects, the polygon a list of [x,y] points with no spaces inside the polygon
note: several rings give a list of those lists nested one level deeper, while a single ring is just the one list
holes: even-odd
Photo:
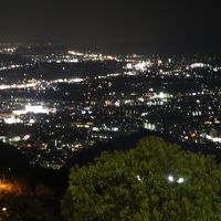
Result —
[{"label": "black hill ridge directly behind the top of the green tree", "polygon": [[74,154],[74,156],[66,162],[66,165],[63,167],[63,170],[65,172],[69,171],[69,169],[75,165],[78,165],[80,167],[86,166],[94,161],[95,158],[97,158],[103,151],[127,151],[130,148],[135,148],[136,144],[139,141],[139,139],[146,137],[146,136],[158,136],[164,138],[165,140],[169,143],[175,143],[181,146],[183,150],[187,151],[193,151],[199,152],[203,155],[214,155],[218,161],[221,161],[221,150],[214,148],[212,144],[209,146],[207,145],[194,145],[194,144],[182,144],[175,138],[162,135],[159,133],[154,133],[149,130],[140,130],[138,133],[115,138],[106,144],[96,144],[92,148],[83,149]]}]

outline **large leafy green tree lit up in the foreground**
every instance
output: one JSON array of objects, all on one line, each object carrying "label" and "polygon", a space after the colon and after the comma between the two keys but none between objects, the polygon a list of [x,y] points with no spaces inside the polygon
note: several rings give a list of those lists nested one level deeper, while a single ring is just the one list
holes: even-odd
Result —
[{"label": "large leafy green tree lit up in the foreground", "polygon": [[147,137],[72,168],[61,211],[64,221],[221,220],[221,167],[212,156]]}]

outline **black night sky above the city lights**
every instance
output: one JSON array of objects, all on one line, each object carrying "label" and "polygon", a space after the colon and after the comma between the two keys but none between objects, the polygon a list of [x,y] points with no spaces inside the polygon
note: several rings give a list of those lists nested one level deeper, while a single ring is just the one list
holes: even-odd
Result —
[{"label": "black night sky above the city lights", "polygon": [[0,42],[107,52],[221,52],[219,13],[211,0],[2,0]]}]

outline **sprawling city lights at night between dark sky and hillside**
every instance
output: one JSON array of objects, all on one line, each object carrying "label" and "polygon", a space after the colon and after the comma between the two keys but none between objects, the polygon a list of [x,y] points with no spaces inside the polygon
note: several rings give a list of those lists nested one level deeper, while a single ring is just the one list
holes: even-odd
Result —
[{"label": "sprawling city lights at night between dark sky and hillside", "polygon": [[1,45],[0,140],[30,164],[59,169],[141,128],[221,147],[220,57],[40,49]]}]

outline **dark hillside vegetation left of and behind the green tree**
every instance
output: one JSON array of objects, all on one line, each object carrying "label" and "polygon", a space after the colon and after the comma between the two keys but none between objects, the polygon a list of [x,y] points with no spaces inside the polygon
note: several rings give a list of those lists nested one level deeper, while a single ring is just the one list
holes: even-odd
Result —
[{"label": "dark hillside vegetation left of and behind the green tree", "polygon": [[[98,158],[102,152],[122,151],[126,152],[134,149],[137,143],[148,136],[162,137],[170,143],[179,144],[171,137],[165,137],[160,134],[140,130],[125,137],[119,137],[107,144],[97,144],[90,149],[77,151],[72,159],[61,170],[50,170],[36,166],[30,166],[25,157],[17,149],[0,144],[0,170],[1,180],[6,179],[10,183],[19,186],[18,192],[0,192],[0,207],[11,208],[10,214],[17,217],[14,220],[59,220],[60,202],[67,188],[67,178],[70,168],[76,165],[81,167],[88,166]],[[210,145],[181,145],[182,150],[192,151],[202,155],[214,155],[217,161],[221,161],[221,151]],[[33,206],[33,208],[32,208]],[[27,208],[27,210],[21,209]],[[35,209],[38,211],[35,211]],[[33,210],[32,210],[33,209]],[[42,210],[42,212],[41,212]],[[35,218],[32,213],[39,214]]]}]

